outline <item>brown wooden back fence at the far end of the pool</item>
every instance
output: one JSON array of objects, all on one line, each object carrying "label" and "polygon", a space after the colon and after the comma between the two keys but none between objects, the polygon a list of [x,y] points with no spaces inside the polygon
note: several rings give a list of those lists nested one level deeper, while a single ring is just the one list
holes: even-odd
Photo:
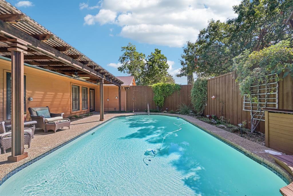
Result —
[{"label": "brown wooden back fence at the far end of the pool", "polygon": [[[162,110],[176,111],[177,105],[180,103],[190,104],[190,91],[191,85],[181,85],[179,92],[174,92],[171,96],[167,97]],[[149,86],[130,86],[126,89],[126,110],[127,111],[144,111],[147,109],[149,103],[150,109],[156,109],[154,102],[154,92]]]}]

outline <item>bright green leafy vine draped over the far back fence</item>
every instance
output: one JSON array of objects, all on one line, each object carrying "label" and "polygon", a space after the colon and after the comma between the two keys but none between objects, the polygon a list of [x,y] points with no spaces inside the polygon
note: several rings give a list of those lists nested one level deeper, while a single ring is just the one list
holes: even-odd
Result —
[{"label": "bright green leafy vine draped over the far back fence", "polygon": [[156,83],[150,85],[154,91],[154,101],[157,107],[163,107],[166,97],[172,95],[176,91],[180,91],[181,87],[179,84],[174,83]]}]

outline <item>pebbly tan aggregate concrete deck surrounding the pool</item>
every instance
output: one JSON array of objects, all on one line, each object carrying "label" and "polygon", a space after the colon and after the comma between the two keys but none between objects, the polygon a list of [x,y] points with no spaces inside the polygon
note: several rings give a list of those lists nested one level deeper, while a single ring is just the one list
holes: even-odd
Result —
[{"label": "pebbly tan aggregate concrete deck surrounding the pool", "polygon": [[[105,121],[110,120],[117,116],[125,116],[125,115],[137,115],[137,114],[146,114],[146,113],[140,113],[140,112],[134,112],[134,113],[108,113],[104,115]],[[228,131],[225,131],[221,128],[215,127],[213,125],[210,125],[208,123],[202,122],[196,118],[193,118],[191,116],[185,116],[185,115],[178,115],[178,114],[166,114],[166,113],[153,113],[153,114],[160,114],[160,115],[169,115],[169,116],[177,116],[180,118],[183,118],[190,123],[193,123],[195,125],[198,125],[199,127],[203,128],[204,130],[217,135],[221,137],[222,139],[226,141],[230,141],[236,146],[254,153],[255,155],[258,155],[260,159],[263,159],[263,161],[269,162],[271,165],[276,167],[278,170],[282,171],[282,173],[285,173],[285,175],[289,176],[292,181],[292,176],[290,176],[286,170],[281,168],[279,165],[275,164],[275,161],[269,156],[268,153],[265,153],[264,150],[272,150],[270,148],[265,147],[264,145],[260,145],[258,143],[255,143],[253,141],[247,140],[245,138],[242,138],[234,133],[230,133]],[[27,163],[28,161],[48,152],[49,150],[75,138],[76,136],[86,132],[87,130],[96,127],[97,125],[105,122],[105,121],[99,121],[100,115],[92,115],[86,118],[82,118],[79,120],[75,120],[71,122],[70,129],[64,128],[63,130],[57,130],[56,133],[53,131],[49,131],[48,133],[44,133],[43,130],[36,130],[35,131],[35,137],[32,139],[30,148],[27,148],[28,146],[25,145],[25,152],[28,152],[28,158],[25,158],[19,162],[11,163],[7,161],[7,157],[11,155],[11,152],[1,154],[0,155],[0,180],[7,175],[12,170],[16,169],[17,167]],[[8,150],[7,150],[8,151]],[[275,151],[275,150],[274,150]],[[3,153],[3,152],[2,152]]]}]

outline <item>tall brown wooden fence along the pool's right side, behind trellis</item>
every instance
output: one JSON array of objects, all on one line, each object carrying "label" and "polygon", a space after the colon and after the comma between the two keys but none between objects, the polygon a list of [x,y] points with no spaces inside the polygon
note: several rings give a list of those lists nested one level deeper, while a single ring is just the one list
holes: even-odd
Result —
[{"label": "tall brown wooden fence along the pool's right side, behind trellis", "polygon": [[[239,87],[235,83],[236,77],[234,71],[208,80],[207,105],[204,115],[217,115],[218,118],[224,116],[234,125],[246,120],[246,128],[251,128],[250,112],[243,110],[243,97],[241,97]],[[282,74],[280,78],[283,78]],[[293,79],[291,76],[288,75],[279,81],[277,95],[278,109],[293,109]],[[216,98],[212,100],[212,96]],[[255,130],[264,133],[265,121],[260,121]]]}]

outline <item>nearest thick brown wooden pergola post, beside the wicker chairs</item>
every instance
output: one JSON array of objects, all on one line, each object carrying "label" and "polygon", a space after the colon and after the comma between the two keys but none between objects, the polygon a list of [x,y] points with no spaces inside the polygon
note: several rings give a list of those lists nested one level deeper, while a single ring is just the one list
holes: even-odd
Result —
[{"label": "nearest thick brown wooden pergola post, beside the wicker chairs", "polygon": [[11,43],[15,48],[9,48],[11,51],[11,156],[8,161],[17,162],[26,157],[28,153],[24,152],[23,142],[23,105],[24,105],[24,65],[23,53],[25,46],[19,40],[14,40],[16,43]]}]

